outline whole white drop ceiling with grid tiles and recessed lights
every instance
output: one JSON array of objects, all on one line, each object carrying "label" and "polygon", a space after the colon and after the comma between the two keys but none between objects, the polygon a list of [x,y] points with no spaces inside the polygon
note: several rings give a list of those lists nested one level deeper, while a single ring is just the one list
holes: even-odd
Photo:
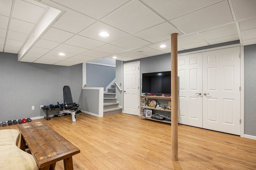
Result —
[{"label": "whole white drop ceiling with grid tiles and recessed lights", "polygon": [[172,33],[178,51],[256,44],[256,0],[0,0],[0,52],[18,54],[21,62],[141,59],[170,53]]}]

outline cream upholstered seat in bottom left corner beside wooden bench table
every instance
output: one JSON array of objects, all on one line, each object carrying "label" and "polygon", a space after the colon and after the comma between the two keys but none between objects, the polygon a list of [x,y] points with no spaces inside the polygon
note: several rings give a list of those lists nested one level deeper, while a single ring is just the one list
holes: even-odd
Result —
[{"label": "cream upholstered seat in bottom left corner beside wooden bench table", "polygon": [[32,154],[18,148],[20,131],[0,130],[0,170],[38,170]]}]

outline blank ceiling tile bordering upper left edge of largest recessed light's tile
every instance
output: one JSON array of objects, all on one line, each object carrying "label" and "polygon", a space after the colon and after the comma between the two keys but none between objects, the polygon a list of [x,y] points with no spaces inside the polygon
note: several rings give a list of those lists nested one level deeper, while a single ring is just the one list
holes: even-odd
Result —
[{"label": "blank ceiling tile bordering upper left edge of largest recessed light's tile", "polygon": [[53,27],[63,29],[72,33],[78,33],[82,29],[88,27],[96,20],[89,18],[78,12],[68,10],[55,24]]}]

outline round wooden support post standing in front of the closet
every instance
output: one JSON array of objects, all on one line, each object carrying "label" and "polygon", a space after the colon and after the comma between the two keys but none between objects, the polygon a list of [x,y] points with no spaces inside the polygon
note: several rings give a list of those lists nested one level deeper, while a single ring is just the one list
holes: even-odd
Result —
[{"label": "round wooden support post standing in front of the closet", "polygon": [[171,95],[172,95],[172,160],[178,160],[178,41],[177,33],[171,34]]}]

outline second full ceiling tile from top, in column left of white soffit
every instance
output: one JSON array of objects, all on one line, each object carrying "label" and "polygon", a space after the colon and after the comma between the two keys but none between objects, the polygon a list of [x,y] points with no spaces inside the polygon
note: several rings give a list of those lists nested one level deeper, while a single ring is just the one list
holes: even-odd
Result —
[{"label": "second full ceiling tile from top, in column left of white soffit", "polygon": [[20,21],[12,18],[10,23],[10,30],[20,32],[20,33],[30,34],[34,26],[35,24],[33,23],[28,23],[25,21]]}]

